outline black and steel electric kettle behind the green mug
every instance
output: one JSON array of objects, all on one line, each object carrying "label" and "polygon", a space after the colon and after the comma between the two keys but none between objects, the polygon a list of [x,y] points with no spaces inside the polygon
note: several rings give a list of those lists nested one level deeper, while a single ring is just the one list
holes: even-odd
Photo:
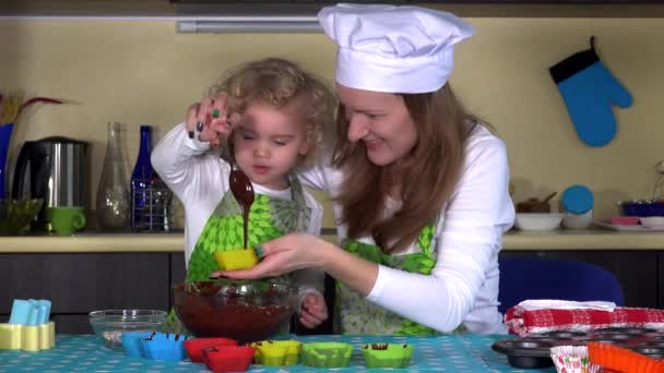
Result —
[{"label": "black and steel electric kettle behind the green mug", "polygon": [[[12,197],[44,200],[35,222],[36,229],[46,229],[48,207],[85,207],[87,147],[86,142],[62,136],[26,141],[23,144],[16,160]],[[27,196],[26,180],[29,180]]]}]

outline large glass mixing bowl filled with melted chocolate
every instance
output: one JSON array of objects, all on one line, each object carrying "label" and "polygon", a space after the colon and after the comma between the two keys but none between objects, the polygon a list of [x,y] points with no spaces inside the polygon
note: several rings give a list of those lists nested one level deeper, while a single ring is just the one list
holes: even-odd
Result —
[{"label": "large glass mixing bowl filled with melted chocolate", "polygon": [[297,287],[275,280],[176,284],[175,311],[197,337],[225,337],[240,342],[287,333]]}]

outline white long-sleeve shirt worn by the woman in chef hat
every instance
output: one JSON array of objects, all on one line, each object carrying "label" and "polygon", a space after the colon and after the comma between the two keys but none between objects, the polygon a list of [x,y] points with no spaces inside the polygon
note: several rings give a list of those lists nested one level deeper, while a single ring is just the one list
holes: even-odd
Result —
[{"label": "white long-sleeve shirt worn by the woman in chef hat", "polygon": [[[498,253],[502,233],[514,220],[508,191],[505,143],[477,127],[465,149],[463,175],[436,222],[431,248],[437,263],[430,275],[411,274],[379,265],[367,299],[417,323],[451,332],[463,323],[472,333],[505,333],[498,312]],[[335,195],[343,175],[328,166],[300,173],[303,182]],[[399,209],[396,202],[389,213]],[[342,207],[334,205],[336,218]],[[339,242],[347,227],[337,227]],[[372,238],[359,241],[375,244]],[[415,245],[404,253],[415,252]]]}]

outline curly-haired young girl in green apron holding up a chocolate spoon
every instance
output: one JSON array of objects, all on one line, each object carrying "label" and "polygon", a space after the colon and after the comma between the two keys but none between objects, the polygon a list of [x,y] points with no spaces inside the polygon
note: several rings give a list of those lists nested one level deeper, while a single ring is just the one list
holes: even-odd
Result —
[{"label": "curly-haired young girl in green apron holding up a chocolate spoon", "polygon": [[[218,125],[233,122],[228,152],[256,194],[249,248],[289,232],[318,236],[322,218],[321,206],[293,170],[311,160],[323,128],[331,124],[332,93],[296,64],[272,58],[228,72],[209,97],[223,101],[223,110],[211,98],[192,106],[186,123],[166,134],[152,154],[154,169],[186,208],[187,281],[208,280],[218,270],[216,251],[244,245],[242,216],[228,185],[232,166],[210,152],[222,143],[220,134],[228,133]],[[237,117],[227,118],[227,112]],[[318,269],[294,275],[300,289],[297,312],[309,328],[328,317],[322,278]]]}]

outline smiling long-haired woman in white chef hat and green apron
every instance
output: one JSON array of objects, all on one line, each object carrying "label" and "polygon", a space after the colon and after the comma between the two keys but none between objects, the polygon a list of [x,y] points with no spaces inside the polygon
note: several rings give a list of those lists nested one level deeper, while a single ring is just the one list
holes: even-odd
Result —
[{"label": "smiling long-haired woman in white chef hat and green apron", "polygon": [[337,280],[340,333],[503,333],[507,152],[448,84],[453,46],[472,26],[391,5],[329,7],[319,21],[340,46],[337,137],[331,163],[300,176],[330,193],[341,245],[292,233],[262,244],[256,267],[217,274],[321,268]]}]

